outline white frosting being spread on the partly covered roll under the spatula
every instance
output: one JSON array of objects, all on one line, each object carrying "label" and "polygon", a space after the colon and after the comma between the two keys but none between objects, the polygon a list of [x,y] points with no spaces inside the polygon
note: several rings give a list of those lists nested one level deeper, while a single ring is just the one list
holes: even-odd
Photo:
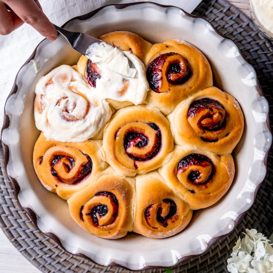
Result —
[{"label": "white frosting being spread on the partly covered roll under the spatula", "polygon": [[98,67],[95,93],[101,99],[144,102],[149,84],[143,63],[133,53],[101,42],[90,45],[85,56]]}]

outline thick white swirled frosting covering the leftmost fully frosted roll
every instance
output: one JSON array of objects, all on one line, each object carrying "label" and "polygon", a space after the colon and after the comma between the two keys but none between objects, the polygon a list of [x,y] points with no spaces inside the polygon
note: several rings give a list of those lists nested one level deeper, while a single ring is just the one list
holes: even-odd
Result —
[{"label": "thick white swirled frosting covering the leftmost fully frosted roll", "polygon": [[53,69],[35,87],[36,127],[47,139],[82,142],[96,135],[112,115],[83,79],[67,65]]}]

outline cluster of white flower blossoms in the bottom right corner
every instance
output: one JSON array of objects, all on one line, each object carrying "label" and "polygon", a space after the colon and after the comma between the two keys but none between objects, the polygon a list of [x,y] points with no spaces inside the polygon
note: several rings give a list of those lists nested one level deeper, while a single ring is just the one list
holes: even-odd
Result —
[{"label": "cluster of white flower blossoms in the bottom right corner", "polygon": [[256,229],[246,229],[227,260],[230,273],[273,273],[273,244]]}]

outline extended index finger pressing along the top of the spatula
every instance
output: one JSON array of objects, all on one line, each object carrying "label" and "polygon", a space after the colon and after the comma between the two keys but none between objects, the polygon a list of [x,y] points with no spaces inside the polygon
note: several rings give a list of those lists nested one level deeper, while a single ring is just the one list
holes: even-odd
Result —
[{"label": "extended index finger pressing along the top of the spatula", "polygon": [[49,40],[55,40],[57,30],[34,0],[3,0],[27,24]]}]

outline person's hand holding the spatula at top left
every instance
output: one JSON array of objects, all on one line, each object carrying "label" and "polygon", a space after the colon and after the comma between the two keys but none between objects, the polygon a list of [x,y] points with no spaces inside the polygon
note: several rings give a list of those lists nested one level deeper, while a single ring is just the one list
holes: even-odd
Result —
[{"label": "person's hand holding the spatula at top left", "polygon": [[57,31],[42,11],[38,0],[0,0],[0,35],[7,35],[27,23],[48,40],[55,40]]}]

